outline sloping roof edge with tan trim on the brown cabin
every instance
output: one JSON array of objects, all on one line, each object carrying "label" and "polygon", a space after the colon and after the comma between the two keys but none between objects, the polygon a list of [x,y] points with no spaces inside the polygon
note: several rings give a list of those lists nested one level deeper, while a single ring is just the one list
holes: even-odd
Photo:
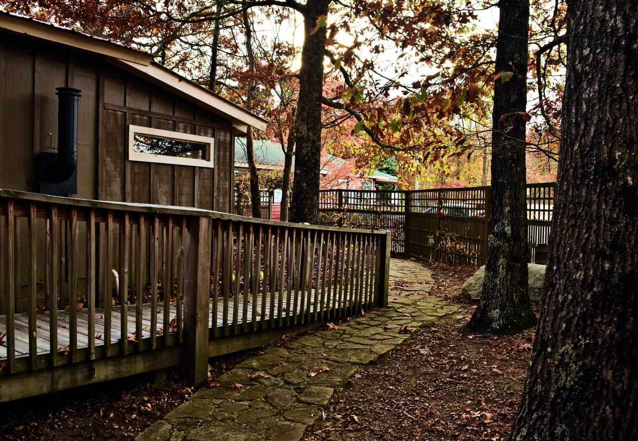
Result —
[{"label": "sloping roof edge with tan trim on the brown cabin", "polygon": [[0,11],[0,30],[104,55],[108,62],[225,117],[240,133],[246,133],[247,126],[260,131],[266,128],[266,119],[154,62],[153,56],[142,50],[68,27],[3,11]]}]

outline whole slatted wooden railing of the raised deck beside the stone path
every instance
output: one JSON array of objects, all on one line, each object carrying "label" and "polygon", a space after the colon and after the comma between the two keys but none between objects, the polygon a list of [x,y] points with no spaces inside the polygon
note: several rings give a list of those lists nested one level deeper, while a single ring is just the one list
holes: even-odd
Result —
[{"label": "whole slatted wooden railing of the raised deck beside the stone path", "polygon": [[390,236],[0,190],[0,402],[182,364],[387,304]]}]

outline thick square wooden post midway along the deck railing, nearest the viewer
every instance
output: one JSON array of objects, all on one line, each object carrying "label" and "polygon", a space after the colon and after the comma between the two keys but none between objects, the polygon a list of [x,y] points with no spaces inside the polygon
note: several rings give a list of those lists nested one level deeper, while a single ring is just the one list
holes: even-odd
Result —
[{"label": "thick square wooden post midway along the deck railing, nearest the viewer", "polygon": [[184,244],[184,365],[186,379],[201,384],[208,369],[208,315],[211,285],[211,222],[193,217]]}]

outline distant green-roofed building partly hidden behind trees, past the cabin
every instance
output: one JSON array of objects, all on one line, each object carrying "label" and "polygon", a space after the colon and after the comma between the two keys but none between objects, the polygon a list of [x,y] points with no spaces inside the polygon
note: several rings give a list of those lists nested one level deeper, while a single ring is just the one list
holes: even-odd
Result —
[{"label": "distant green-roofed building partly hidden behind trees, past the cabin", "polygon": [[[253,141],[255,162],[260,169],[283,169],[284,154],[281,145],[272,141]],[[248,170],[246,138],[235,138],[235,171]],[[373,190],[378,184],[397,185],[397,177],[373,170],[369,173],[353,170],[352,164],[334,155],[322,157],[322,190]]]}]

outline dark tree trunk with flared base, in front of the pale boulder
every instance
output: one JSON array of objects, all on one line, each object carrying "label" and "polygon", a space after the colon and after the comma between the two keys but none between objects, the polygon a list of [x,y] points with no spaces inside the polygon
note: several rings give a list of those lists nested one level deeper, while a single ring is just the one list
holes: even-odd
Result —
[{"label": "dark tree trunk with flared base, in front of the pale boulder", "polygon": [[[473,332],[513,333],[536,323],[528,293],[525,199],[526,73],[529,0],[501,0],[496,72],[514,72],[494,84],[492,190],[487,261]],[[507,74],[503,78],[507,78]]]}]

